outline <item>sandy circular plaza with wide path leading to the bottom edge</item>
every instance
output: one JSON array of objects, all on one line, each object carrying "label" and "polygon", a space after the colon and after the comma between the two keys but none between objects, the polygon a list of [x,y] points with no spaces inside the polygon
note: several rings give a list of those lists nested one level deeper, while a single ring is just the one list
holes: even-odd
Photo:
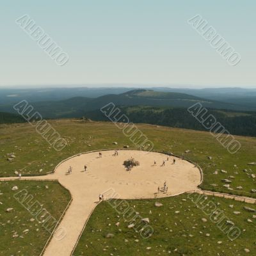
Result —
[{"label": "sandy circular plaza with wide path leading to the bottom edge", "polygon": [[[65,236],[61,239],[52,237],[44,252],[45,256],[71,255],[84,223],[99,202],[99,194],[109,197],[109,192],[104,191],[111,189],[115,194],[111,193],[110,197],[122,199],[156,198],[197,189],[201,182],[200,170],[194,164],[177,157],[139,150],[118,150],[118,156],[115,156],[114,150],[104,150],[101,153],[102,157],[99,152],[80,154],[60,163],[50,175],[26,177],[56,179],[70,191],[73,198],[60,223]],[[134,166],[128,171],[123,164],[131,157],[139,161],[140,166]],[[161,166],[163,161],[164,166]],[[84,165],[87,166],[86,172]],[[68,174],[70,166],[72,173]],[[168,186],[167,193],[163,192],[164,182]],[[161,189],[160,193],[157,191],[158,187]]]}]

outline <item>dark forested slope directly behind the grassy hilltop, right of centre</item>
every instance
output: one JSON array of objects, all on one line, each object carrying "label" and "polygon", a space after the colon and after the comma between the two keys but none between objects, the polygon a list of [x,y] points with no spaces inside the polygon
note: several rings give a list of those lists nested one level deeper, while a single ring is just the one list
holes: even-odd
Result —
[{"label": "dark forested slope directly behind the grassy hilltop, right of centre", "polygon": [[[129,117],[133,123],[165,125],[184,129],[205,131],[196,118],[186,108],[153,108],[147,106],[132,106],[120,108],[121,113]],[[216,120],[230,132],[230,134],[256,136],[256,112],[224,111],[208,109],[207,115],[214,115]],[[108,121],[103,113],[91,111],[87,118]]]}]

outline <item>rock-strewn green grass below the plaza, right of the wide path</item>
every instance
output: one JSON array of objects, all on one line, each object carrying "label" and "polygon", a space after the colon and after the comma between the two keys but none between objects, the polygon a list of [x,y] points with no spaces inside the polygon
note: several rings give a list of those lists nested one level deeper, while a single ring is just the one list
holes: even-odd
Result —
[{"label": "rock-strewn green grass below the plaza, right of the wide path", "polygon": [[[241,235],[234,241],[228,239],[227,234],[221,231],[217,224],[212,223],[211,218],[206,216],[202,209],[196,207],[188,198],[188,194],[154,200],[127,200],[134,212],[141,218],[149,219],[149,225],[154,232],[148,239],[143,239],[140,232],[136,232],[137,229],[128,228],[134,221],[125,214],[120,214],[121,206],[124,207],[124,211],[128,209],[126,204],[120,205],[116,212],[116,209],[105,201],[93,212],[77,244],[74,256],[256,255],[256,219],[253,219],[252,212],[243,209],[244,206],[254,205],[208,196],[207,204],[210,201],[216,205],[216,211],[223,211],[241,230]],[[163,206],[156,207],[155,202],[161,202]],[[234,211],[241,213],[236,215]],[[207,221],[204,222],[202,219]],[[252,223],[248,222],[248,219],[252,220]],[[140,220],[136,219],[136,225],[140,225]],[[120,224],[117,227],[118,222]],[[228,228],[226,221],[223,223],[223,227]],[[108,234],[113,234],[113,237],[106,237]],[[250,253],[246,253],[244,249],[250,250]]]}]

